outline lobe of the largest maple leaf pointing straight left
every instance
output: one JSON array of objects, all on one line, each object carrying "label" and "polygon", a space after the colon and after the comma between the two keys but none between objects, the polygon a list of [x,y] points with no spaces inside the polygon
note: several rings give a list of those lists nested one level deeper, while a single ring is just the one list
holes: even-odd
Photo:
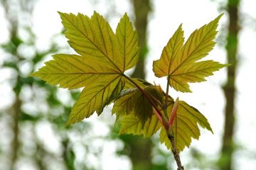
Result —
[{"label": "lobe of the largest maple leaf pointing straight left", "polygon": [[53,55],[53,60],[46,66],[34,72],[31,76],[39,77],[48,84],[58,85],[68,89],[78,89],[91,84],[95,79],[105,79],[108,74],[119,76],[119,72],[108,64],[91,57],[79,55]]}]

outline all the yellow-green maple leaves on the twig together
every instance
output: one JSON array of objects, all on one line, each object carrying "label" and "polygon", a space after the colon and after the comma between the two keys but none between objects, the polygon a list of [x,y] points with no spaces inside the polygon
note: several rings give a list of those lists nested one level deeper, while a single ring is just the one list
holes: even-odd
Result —
[{"label": "all the yellow-green maple leaves on the twig together", "polygon": [[[160,59],[154,61],[156,77],[167,77],[167,86],[176,91],[191,92],[188,83],[205,81],[205,77],[227,66],[213,60],[198,62],[214,47],[221,16],[195,30],[184,45],[179,26]],[[174,135],[176,149],[182,151],[191,145],[192,137],[199,138],[198,125],[213,132],[196,108],[184,101],[177,101],[174,106],[169,88],[164,92],[161,86],[124,74],[135,66],[139,57],[137,33],[127,13],[119,21],[116,33],[96,12],[91,18],[81,13],[77,16],[60,13],[60,17],[65,36],[78,55],[53,55],[53,60],[31,75],[63,88],[83,88],[68,124],[89,118],[95,111],[100,115],[105,106],[114,103],[112,114],[117,115],[119,134],[150,137],[161,129],[160,140],[169,149],[169,135]],[[175,112],[174,122],[170,119],[171,112]]]}]

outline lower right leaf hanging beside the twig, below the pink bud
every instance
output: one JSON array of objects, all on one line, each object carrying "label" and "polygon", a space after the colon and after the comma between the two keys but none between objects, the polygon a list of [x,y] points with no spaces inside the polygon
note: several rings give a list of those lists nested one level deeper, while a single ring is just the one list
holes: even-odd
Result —
[{"label": "lower right leaf hanging beside the twig, below the pink bud", "polygon": [[[169,113],[174,106],[174,103],[168,108]],[[206,128],[210,132],[213,130],[210,128],[210,124],[206,117],[203,116],[196,108],[189,106],[184,101],[179,101],[178,111],[176,113],[176,118],[174,119],[173,131],[176,148],[182,151],[184,147],[189,147],[191,145],[191,138],[198,140],[200,136],[200,130],[198,124],[202,128]],[[169,141],[166,130],[161,128],[160,141],[164,142],[167,148],[171,149],[171,142]]]}]

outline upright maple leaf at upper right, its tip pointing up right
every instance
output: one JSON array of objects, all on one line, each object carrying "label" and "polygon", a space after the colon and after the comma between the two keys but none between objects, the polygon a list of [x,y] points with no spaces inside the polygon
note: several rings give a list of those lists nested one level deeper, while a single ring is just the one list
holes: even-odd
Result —
[{"label": "upright maple leaf at upper right, its tip pointing up right", "polygon": [[153,70],[156,77],[167,77],[169,85],[176,91],[191,92],[188,83],[206,81],[205,77],[226,67],[213,60],[198,62],[213,49],[213,41],[221,14],[215,20],[195,30],[183,45],[183,30],[179,26],[161,54],[154,61]]}]

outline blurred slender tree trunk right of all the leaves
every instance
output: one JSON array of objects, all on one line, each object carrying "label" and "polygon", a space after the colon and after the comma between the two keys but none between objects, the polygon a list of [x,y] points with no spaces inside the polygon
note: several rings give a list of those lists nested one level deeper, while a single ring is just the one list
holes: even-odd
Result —
[{"label": "blurred slender tree trunk right of all the leaves", "polygon": [[225,106],[225,129],[223,134],[223,146],[220,157],[220,169],[230,170],[232,169],[232,157],[235,150],[233,143],[234,125],[235,125],[235,72],[237,64],[237,52],[238,52],[238,8],[240,0],[228,0],[228,37],[226,50],[228,53],[228,63],[231,64],[228,67],[228,81],[223,90],[225,92],[226,106]]}]

